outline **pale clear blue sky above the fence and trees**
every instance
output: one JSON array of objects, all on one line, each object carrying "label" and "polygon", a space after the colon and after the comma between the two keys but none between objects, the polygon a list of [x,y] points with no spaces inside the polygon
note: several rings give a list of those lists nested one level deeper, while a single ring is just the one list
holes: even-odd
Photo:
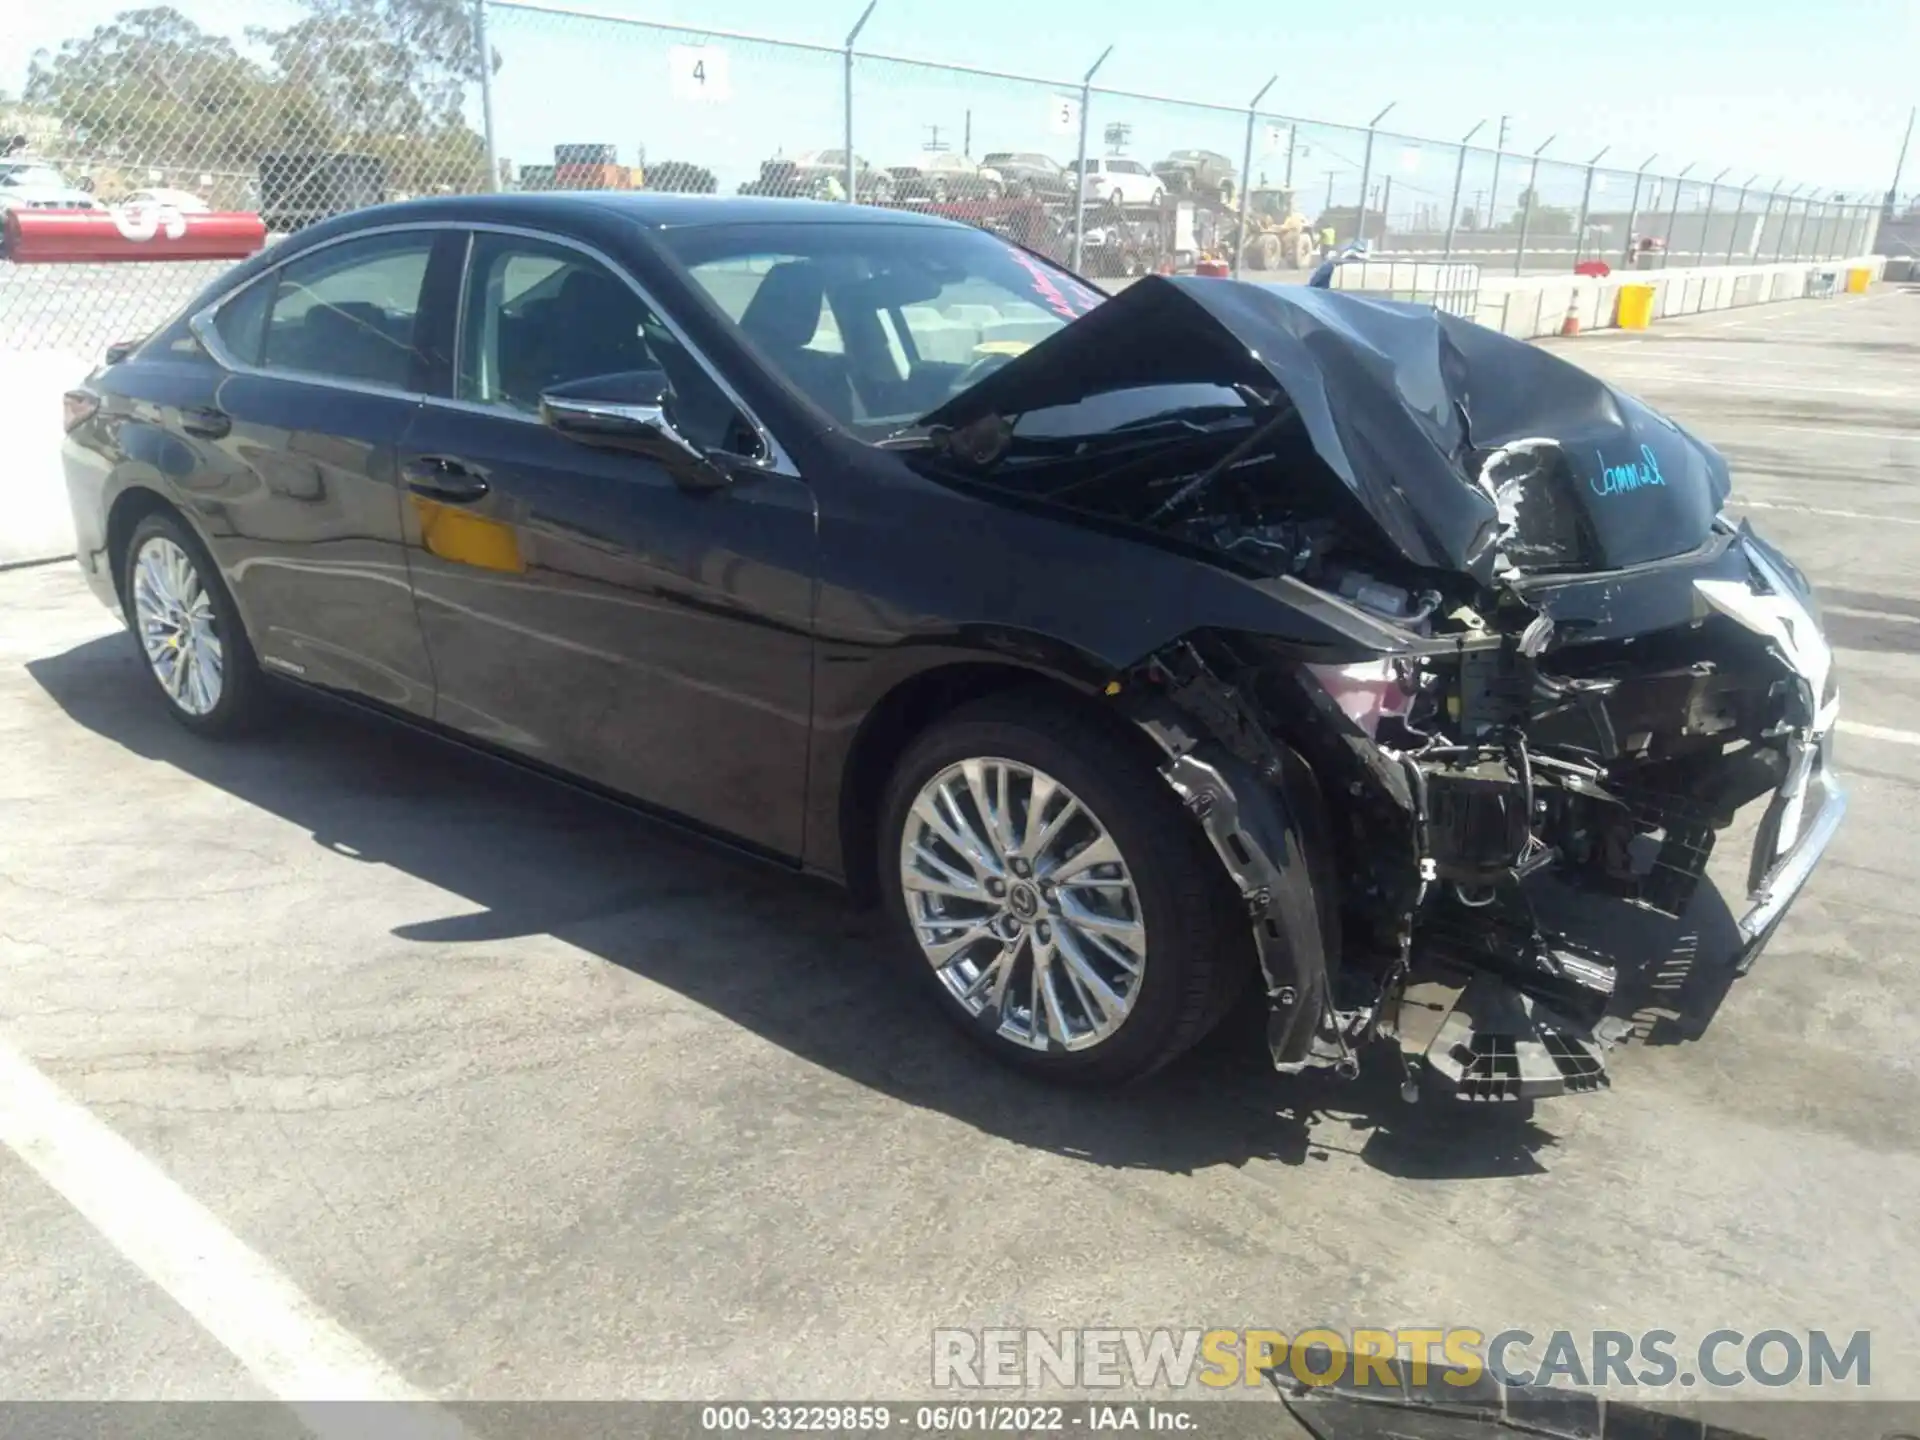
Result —
[{"label": "pale clear blue sky above the fence and trees", "polygon": [[[864,0],[793,6],[791,0],[595,0],[605,13],[780,35],[837,46]],[[227,0],[177,0],[209,29],[236,27]],[[63,0],[25,6],[0,19],[0,84],[17,90],[36,46],[125,6]],[[19,13],[19,12],[33,13]],[[253,0],[246,21],[275,23],[286,0]],[[493,10],[501,154],[551,159],[563,140],[607,140],[632,161],[699,159],[724,188],[776,150],[839,142],[839,58],[770,52],[735,40],[724,69],[730,96],[697,102],[674,84],[670,46],[687,36],[551,15]],[[1640,0],[1632,6],[1515,4],[1513,0],[1371,0],[1371,4],[1277,4],[1275,0],[879,0],[862,48],[1077,81],[1106,44],[1114,56],[1100,83],[1169,96],[1246,100],[1279,73],[1263,109],[1363,125],[1396,102],[1386,125],[1453,140],[1482,117],[1511,115],[1509,148],[1530,152],[1557,136],[1549,157],[1584,161],[1611,146],[1607,165],[1634,169],[1651,152],[1655,169],[1695,161],[1693,177],[1726,169],[1724,184],[1759,173],[1788,182],[1884,192],[1907,109],[1920,100],[1920,0]],[[708,52],[710,54],[710,52]],[[685,56],[680,56],[685,63]],[[1071,90],[1071,86],[1068,86]],[[1058,86],[954,79],[935,71],[862,61],[856,88],[858,148],[889,163],[916,152],[925,127],[960,148],[972,117],[973,154],[1039,148],[1071,159],[1075,136],[1058,129]],[[1244,119],[1181,111],[1137,100],[1096,98],[1094,142],[1108,121],[1133,127],[1129,154],[1158,157],[1173,146],[1221,150],[1238,163]],[[1480,138],[1492,136],[1494,125]],[[1286,134],[1261,125],[1256,171],[1279,179]],[[1313,198],[1332,184],[1357,194],[1361,142],[1304,129],[1294,140],[1296,182]],[[1526,163],[1507,159],[1500,196],[1521,184]],[[1444,202],[1448,154],[1400,140],[1375,154],[1375,179],[1394,175],[1394,209]],[[1463,194],[1484,188],[1476,159]],[[1565,200],[1578,175],[1548,171],[1542,192]],[[1630,188],[1630,180],[1626,182]],[[1920,188],[1910,157],[1903,188]],[[1607,186],[1624,202],[1619,180]],[[1607,204],[1607,194],[1596,204]]]}]

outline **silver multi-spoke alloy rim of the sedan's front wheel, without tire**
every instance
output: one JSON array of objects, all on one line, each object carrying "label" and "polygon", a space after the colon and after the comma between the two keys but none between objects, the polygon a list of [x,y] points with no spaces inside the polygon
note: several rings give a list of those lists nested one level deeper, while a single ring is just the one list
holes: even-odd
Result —
[{"label": "silver multi-spoke alloy rim of the sedan's front wheel, without tire", "polygon": [[941,985],[1004,1041],[1081,1050],[1125,1023],[1146,924],[1100,818],[1044,770],[983,756],[914,797],[900,889]]}]

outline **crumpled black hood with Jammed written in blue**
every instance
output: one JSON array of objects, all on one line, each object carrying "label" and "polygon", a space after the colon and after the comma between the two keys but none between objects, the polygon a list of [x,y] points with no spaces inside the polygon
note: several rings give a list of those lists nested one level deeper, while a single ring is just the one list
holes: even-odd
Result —
[{"label": "crumpled black hood with Jammed written in blue", "polygon": [[1503,524],[1480,467],[1501,445],[1557,442],[1546,478],[1592,570],[1697,547],[1730,490],[1713,445],[1538,346],[1428,305],[1217,278],[1139,280],[924,422],[1192,382],[1277,382],[1394,547],[1482,584]]}]

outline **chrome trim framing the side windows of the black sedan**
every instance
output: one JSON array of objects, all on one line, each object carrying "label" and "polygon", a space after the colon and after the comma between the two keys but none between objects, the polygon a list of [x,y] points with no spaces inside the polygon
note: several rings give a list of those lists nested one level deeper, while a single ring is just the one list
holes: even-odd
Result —
[{"label": "chrome trim framing the side windows of the black sedan", "polygon": [[[392,386],[367,384],[365,380],[344,380],[344,378],[330,376],[330,374],[315,374],[311,371],[271,371],[271,369],[265,369],[265,367],[259,367],[259,365],[246,365],[246,363],[234,359],[232,351],[228,351],[227,346],[221,342],[219,330],[213,328],[213,319],[215,319],[215,315],[219,315],[219,311],[225,305],[228,305],[240,294],[252,290],[255,284],[261,284],[267,276],[276,275],[278,271],[286,269],[294,261],[305,259],[307,255],[317,255],[323,250],[330,250],[332,246],[346,244],[349,240],[365,240],[365,238],[376,236],[376,234],[397,234],[397,232],[405,232],[405,230],[461,230],[461,232],[467,234],[467,250],[461,255],[461,290],[459,290],[459,300],[455,303],[455,326],[453,326],[453,357],[451,357],[453,369],[451,369],[451,382],[453,382],[455,388],[459,386],[459,348],[461,348],[461,336],[463,336],[463,330],[465,330],[465,324],[467,324],[467,276],[468,276],[468,269],[472,265],[472,250],[474,250],[472,236],[476,232],[484,230],[484,232],[490,232],[490,234],[511,234],[511,236],[518,236],[522,240],[540,240],[543,244],[561,246],[564,250],[572,250],[572,252],[576,252],[580,255],[586,255],[589,259],[599,261],[616,278],[620,278],[626,284],[628,290],[632,290],[636,296],[639,296],[641,303],[645,303],[647,309],[660,321],[660,324],[666,326],[668,334],[672,334],[674,340],[680,342],[680,348],[685,349],[687,355],[693,357],[693,363],[699,365],[701,371],[705,371],[707,378],[712,380],[720,388],[720,394],[724,394],[733,403],[733,407],[747,419],[747,424],[753,426],[753,432],[760,438],[760,447],[762,447],[764,455],[760,459],[753,461],[753,467],[756,470],[764,470],[764,472],[770,472],[770,474],[783,474],[783,476],[787,476],[791,480],[799,480],[801,478],[801,470],[793,463],[793,457],[787,455],[787,449],[780,444],[780,440],[774,438],[774,432],[766,428],[766,422],[760,420],[760,417],[753,413],[753,407],[745,399],[741,399],[739,392],[732,384],[728,384],[726,376],[720,374],[720,369],[710,359],[707,359],[707,355],[699,349],[699,346],[695,346],[687,338],[687,332],[680,326],[680,323],[672,315],[668,315],[666,307],[662,307],[647,292],[647,288],[628,273],[628,269],[624,265],[620,265],[605,250],[599,250],[597,246],[589,246],[584,240],[574,240],[572,236],[564,236],[564,234],[553,234],[551,230],[538,230],[538,228],[528,227],[528,225],[503,225],[499,221],[455,221],[455,219],[445,219],[445,221],[438,221],[438,219],[434,219],[434,221],[396,221],[394,225],[369,225],[367,228],[361,228],[361,230],[349,230],[346,234],[330,236],[326,240],[321,240],[315,246],[307,246],[305,250],[301,250],[301,252],[298,252],[294,255],[286,255],[286,257],[275,261],[273,265],[269,265],[267,269],[263,269],[259,275],[255,275],[246,284],[242,284],[242,286],[238,286],[234,290],[228,290],[225,296],[221,296],[219,300],[215,300],[211,305],[202,307],[192,317],[192,321],[188,321],[188,324],[190,324],[190,328],[194,332],[194,338],[200,340],[200,344],[207,348],[207,353],[213,355],[213,359],[219,361],[223,369],[227,369],[227,371],[230,371],[234,374],[252,374],[252,376],[259,376],[259,378],[267,378],[267,380],[288,380],[290,378],[290,380],[301,380],[305,384],[321,384],[321,386],[334,386],[336,390],[351,390],[351,392],[357,392],[357,394],[390,396],[390,397],[397,397],[397,399],[413,399],[413,401],[419,401],[422,405],[444,405],[444,407],[449,407],[449,409],[455,409],[455,411],[467,411],[467,413],[472,413],[472,415],[492,415],[493,419],[520,420],[524,424],[543,424],[538,415],[526,415],[522,411],[503,409],[499,405],[488,405],[484,401],[455,399],[453,396],[428,396],[428,394],[424,394],[420,390],[396,390]],[[739,457],[739,459],[745,459],[745,457]]]}]

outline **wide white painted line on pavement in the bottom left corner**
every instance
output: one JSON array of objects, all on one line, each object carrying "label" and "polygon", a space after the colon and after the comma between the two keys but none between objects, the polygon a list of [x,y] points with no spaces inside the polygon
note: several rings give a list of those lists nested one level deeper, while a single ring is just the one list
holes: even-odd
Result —
[{"label": "wide white painted line on pavement in the bottom left corner", "polygon": [[382,1428],[392,1421],[407,1434],[465,1434],[438,1405],[417,1404],[419,1390],[4,1039],[0,1144],[315,1434],[359,1436],[369,1417],[301,1402],[415,1402],[382,1413]]}]

